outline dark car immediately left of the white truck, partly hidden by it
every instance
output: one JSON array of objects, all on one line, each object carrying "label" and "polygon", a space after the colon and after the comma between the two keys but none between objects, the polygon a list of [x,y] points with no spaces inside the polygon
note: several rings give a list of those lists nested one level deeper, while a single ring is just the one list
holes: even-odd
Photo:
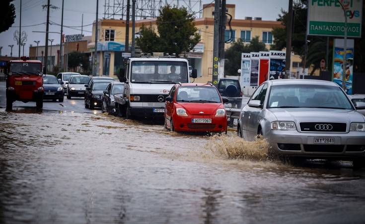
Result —
[{"label": "dark car immediately left of the white truck, partly hidden by it", "polygon": [[122,95],[124,91],[124,83],[123,82],[111,82],[109,83],[106,90],[104,90],[104,94],[101,96],[101,112],[114,113],[115,95]]}]

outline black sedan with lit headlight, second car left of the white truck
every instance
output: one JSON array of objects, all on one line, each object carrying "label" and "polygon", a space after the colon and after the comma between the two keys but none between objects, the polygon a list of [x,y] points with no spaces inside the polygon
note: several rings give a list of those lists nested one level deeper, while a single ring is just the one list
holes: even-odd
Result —
[{"label": "black sedan with lit headlight, second car left of the white truck", "polygon": [[85,108],[101,107],[101,96],[110,82],[112,80],[93,81],[90,87],[86,87]]}]

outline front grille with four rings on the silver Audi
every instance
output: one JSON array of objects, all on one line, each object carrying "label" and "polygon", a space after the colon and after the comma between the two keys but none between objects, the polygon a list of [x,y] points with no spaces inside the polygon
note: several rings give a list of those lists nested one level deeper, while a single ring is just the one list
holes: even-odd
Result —
[{"label": "front grille with four rings on the silver Audi", "polygon": [[301,132],[338,132],[346,133],[347,124],[338,122],[300,122]]}]

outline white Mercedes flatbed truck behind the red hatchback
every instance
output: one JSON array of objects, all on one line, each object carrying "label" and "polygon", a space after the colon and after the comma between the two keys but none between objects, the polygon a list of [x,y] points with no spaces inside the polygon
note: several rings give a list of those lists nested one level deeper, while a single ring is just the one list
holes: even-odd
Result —
[{"label": "white Mercedes flatbed truck behind the red hatchback", "polygon": [[[197,77],[194,69],[191,76]],[[165,98],[176,83],[190,82],[186,59],[170,57],[130,58],[121,68],[119,79],[124,82],[123,95],[115,96],[118,116],[127,119],[158,118],[165,112]]]}]

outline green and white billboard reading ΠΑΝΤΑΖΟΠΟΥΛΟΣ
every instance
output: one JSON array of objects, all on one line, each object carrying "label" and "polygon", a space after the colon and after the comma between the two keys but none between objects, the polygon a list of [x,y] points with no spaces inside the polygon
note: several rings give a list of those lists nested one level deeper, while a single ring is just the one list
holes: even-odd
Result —
[{"label": "green and white billboard reading \u03a0\u0391\u039d\u03a4\u0391\u0396\u039f\u03a0\u039f\u03a5\u039b\u039f\u03a3", "polygon": [[361,37],[363,0],[309,0],[307,34],[343,37],[345,16],[340,2],[346,8],[347,36]]}]

